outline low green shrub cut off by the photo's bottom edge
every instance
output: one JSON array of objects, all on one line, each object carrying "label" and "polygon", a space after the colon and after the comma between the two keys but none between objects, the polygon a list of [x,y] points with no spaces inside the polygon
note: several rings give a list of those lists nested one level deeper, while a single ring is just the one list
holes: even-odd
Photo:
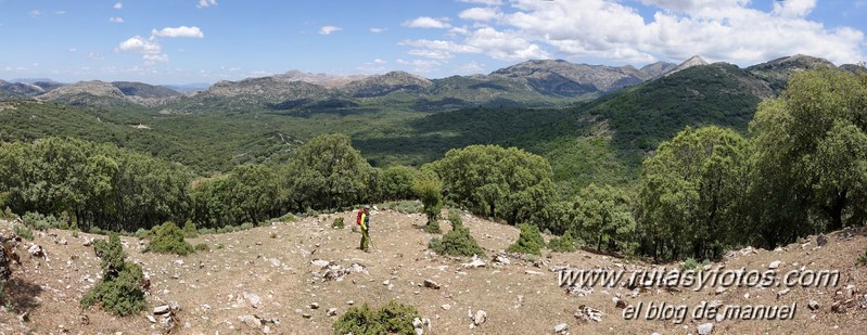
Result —
[{"label": "low green shrub cut off by the photo's bottom edge", "polygon": [[334,334],[415,335],[412,320],[416,318],[420,317],[415,307],[392,300],[377,311],[371,310],[367,304],[361,307],[350,307],[334,321],[333,327]]}]

